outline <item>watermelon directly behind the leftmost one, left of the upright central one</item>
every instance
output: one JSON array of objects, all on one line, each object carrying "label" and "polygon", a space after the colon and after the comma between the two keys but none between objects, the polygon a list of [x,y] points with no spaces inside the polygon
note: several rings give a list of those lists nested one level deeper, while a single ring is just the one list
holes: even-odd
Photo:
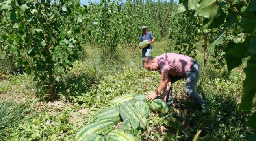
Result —
[{"label": "watermelon directly behind the leftmost one, left of the upright central one", "polygon": [[102,118],[112,119],[115,122],[115,124],[120,123],[122,121],[122,118],[119,115],[119,106],[105,108],[100,112],[97,112],[93,117],[93,121]]}]

